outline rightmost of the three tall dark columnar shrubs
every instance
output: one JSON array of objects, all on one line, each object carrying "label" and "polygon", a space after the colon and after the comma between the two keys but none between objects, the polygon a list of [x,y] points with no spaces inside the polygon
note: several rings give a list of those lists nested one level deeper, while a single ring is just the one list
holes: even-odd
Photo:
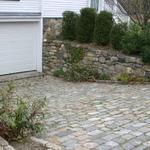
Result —
[{"label": "rightmost of the three tall dark columnar shrubs", "polygon": [[113,26],[113,16],[111,13],[102,11],[96,16],[94,41],[98,45],[108,45],[110,31]]}]

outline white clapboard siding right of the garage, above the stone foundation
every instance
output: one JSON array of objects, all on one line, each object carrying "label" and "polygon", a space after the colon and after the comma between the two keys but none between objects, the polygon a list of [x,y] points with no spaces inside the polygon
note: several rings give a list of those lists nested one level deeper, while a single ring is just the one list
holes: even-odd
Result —
[{"label": "white clapboard siding right of the garage, above the stone foundation", "polygon": [[42,0],[43,17],[62,17],[66,10],[78,13],[83,7],[88,7],[88,0]]}]

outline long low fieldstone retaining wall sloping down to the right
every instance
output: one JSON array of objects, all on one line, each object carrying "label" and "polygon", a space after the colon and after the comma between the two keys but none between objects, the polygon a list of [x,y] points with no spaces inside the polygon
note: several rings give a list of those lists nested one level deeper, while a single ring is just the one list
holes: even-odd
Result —
[{"label": "long low fieldstone retaining wall sloping down to the right", "polygon": [[58,40],[44,43],[43,69],[45,72],[52,73],[60,68],[66,70],[66,44],[72,47],[82,47],[85,56],[81,63],[91,65],[93,68],[98,69],[99,73],[117,75],[127,72],[141,77],[150,77],[150,66],[143,64],[138,57],[127,56],[106,47]]}]

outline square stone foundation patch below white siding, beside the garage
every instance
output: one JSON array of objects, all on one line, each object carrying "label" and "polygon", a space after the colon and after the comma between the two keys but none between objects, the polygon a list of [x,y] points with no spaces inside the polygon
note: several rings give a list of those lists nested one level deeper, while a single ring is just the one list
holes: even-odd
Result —
[{"label": "square stone foundation patch below white siding, beside the garage", "polygon": [[44,41],[60,39],[62,31],[61,18],[44,18]]}]

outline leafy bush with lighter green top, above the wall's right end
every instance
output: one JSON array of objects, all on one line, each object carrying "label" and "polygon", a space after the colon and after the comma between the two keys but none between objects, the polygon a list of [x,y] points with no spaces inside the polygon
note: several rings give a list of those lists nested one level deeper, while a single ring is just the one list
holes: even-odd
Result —
[{"label": "leafy bush with lighter green top, above the wall's right end", "polygon": [[133,24],[129,27],[122,39],[123,52],[126,54],[139,54],[143,44],[141,41],[141,27]]}]

